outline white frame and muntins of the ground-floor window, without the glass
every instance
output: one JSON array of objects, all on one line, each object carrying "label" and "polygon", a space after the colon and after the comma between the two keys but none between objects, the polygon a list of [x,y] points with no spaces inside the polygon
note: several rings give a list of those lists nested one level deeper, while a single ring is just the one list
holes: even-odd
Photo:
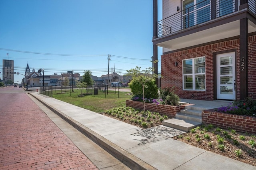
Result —
[{"label": "white frame and muntins of the ground-floor window, without the glass", "polygon": [[[199,58],[204,58],[204,72],[202,73],[195,73],[195,60]],[[182,60],[182,90],[188,90],[188,91],[206,91],[206,80],[204,84],[204,89],[196,89],[196,75],[204,75],[204,78],[206,79],[206,63],[205,63],[205,56],[202,57],[196,57],[191,59],[184,59]],[[184,74],[184,61],[186,60],[192,60],[192,74]],[[184,87],[184,76],[191,76],[192,75],[192,89],[185,89]]]}]

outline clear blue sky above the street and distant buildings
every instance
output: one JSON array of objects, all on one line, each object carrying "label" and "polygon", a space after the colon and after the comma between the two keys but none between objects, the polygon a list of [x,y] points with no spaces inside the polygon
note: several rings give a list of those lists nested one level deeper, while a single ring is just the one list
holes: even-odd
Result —
[{"label": "clear blue sky above the street and distant buildings", "polygon": [[[10,59],[21,74],[28,63],[47,75],[101,76],[108,74],[108,55],[110,73],[114,66],[121,75],[152,66],[153,0],[0,0],[0,23],[0,70]],[[14,82],[23,77],[14,74]]]}]

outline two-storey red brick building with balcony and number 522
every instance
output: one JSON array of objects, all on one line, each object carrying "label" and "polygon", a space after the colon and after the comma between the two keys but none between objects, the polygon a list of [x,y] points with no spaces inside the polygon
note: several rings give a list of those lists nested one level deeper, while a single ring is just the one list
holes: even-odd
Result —
[{"label": "two-storey red brick building with balcony and number 522", "polygon": [[196,100],[256,98],[255,0],[162,0],[161,21],[153,2],[161,88]]}]

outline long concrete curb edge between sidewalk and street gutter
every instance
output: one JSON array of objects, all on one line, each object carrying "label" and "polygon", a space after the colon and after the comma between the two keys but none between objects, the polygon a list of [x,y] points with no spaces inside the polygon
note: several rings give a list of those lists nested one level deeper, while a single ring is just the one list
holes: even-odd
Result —
[{"label": "long concrete curb edge between sidewalk and street gutter", "polygon": [[78,131],[83,133],[86,137],[94,141],[97,145],[102,147],[102,149],[106,150],[108,153],[110,153],[112,156],[120,160],[120,162],[124,163],[126,166],[133,170],[156,170],[156,168],[150,166],[143,160],[137,158],[136,156],[130,154],[126,150],[118,147],[114,143],[108,141],[104,137],[98,135],[94,131],[88,129],[84,125],[80,124],[79,122],[75,121],[68,115],[62,113],[58,109],[48,105],[46,102],[40,100],[37,98],[34,94],[31,94],[28,92],[31,96],[36,98],[39,102],[44,104],[44,106],[48,107],[51,111],[53,111],[56,115],[60,116],[62,119],[64,119],[66,122],[68,122],[70,125],[72,125],[74,128],[76,128]]}]

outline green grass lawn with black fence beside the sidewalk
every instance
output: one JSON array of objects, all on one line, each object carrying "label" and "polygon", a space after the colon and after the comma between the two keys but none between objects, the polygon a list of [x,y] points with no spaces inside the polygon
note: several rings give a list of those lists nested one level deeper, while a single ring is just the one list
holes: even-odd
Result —
[{"label": "green grass lawn with black fence beside the sidewalk", "polygon": [[[84,97],[78,97],[81,94],[81,90],[78,89],[74,89],[72,93],[63,91],[65,89],[62,89],[62,93],[61,90],[53,90],[52,97],[96,113],[102,113],[114,107],[126,106],[125,101],[132,97],[131,95],[126,95],[129,92],[119,92],[118,98],[118,90],[108,90],[108,94],[98,90],[98,95],[94,95],[94,90],[88,90],[90,95]],[[86,93],[86,89],[82,90],[82,93]]]}]

